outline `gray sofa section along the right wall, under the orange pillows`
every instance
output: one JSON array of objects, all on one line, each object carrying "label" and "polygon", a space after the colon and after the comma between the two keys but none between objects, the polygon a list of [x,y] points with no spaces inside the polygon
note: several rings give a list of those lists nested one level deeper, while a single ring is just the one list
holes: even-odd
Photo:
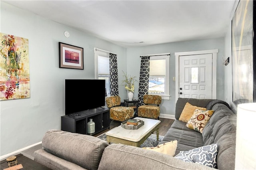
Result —
[{"label": "gray sofa section along the right wall, under the orange pillows", "polygon": [[[202,134],[179,121],[186,103],[207,110],[214,110],[213,115],[204,127]],[[220,170],[233,170],[236,153],[236,114],[230,110],[228,103],[212,99],[178,98],[175,109],[176,120],[159,144],[178,140],[176,154],[182,150],[191,150],[210,144],[218,144],[217,167]]]}]

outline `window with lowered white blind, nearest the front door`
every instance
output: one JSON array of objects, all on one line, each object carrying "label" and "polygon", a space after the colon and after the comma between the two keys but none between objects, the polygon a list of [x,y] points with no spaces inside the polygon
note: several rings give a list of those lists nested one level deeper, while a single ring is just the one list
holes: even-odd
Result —
[{"label": "window with lowered white blind, nearest the front door", "polygon": [[162,99],[169,100],[169,55],[155,55],[150,56],[148,93],[161,95]]}]

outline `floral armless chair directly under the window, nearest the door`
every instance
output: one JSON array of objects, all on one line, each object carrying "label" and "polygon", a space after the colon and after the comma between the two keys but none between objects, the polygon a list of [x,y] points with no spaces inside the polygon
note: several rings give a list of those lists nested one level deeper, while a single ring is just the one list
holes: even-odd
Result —
[{"label": "floral armless chair directly under the window, nearest the door", "polygon": [[138,117],[154,118],[159,120],[162,97],[159,95],[144,95],[143,103],[138,107]]}]

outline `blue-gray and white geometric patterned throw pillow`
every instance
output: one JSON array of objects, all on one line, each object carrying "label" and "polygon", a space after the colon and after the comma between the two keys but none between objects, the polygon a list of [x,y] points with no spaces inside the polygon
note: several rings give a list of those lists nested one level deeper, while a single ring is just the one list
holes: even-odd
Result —
[{"label": "blue-gray and white geometric patterned throw pillow", "polygon": [[218,144],[211,144],[188,151],[180,151],[174,158],[178,158],[185,162],[194,162],[210,166],[211,168],[217,168],[217,154]]}]

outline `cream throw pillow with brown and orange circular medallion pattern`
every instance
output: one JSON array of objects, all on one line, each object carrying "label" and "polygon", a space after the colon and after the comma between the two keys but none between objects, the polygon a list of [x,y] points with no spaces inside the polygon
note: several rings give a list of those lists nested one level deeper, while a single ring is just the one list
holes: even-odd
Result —
[{"label": "cream throw pillow with brown and orange circular medallion pattern", "polygon": [[194,114],[186,124],[186,127],[202,133],[206,123],[210,120],[210,117],[212,116],[212,114],[213,114],[212,110],[203,111],[203,110],[196,109],[194,111]]}]

